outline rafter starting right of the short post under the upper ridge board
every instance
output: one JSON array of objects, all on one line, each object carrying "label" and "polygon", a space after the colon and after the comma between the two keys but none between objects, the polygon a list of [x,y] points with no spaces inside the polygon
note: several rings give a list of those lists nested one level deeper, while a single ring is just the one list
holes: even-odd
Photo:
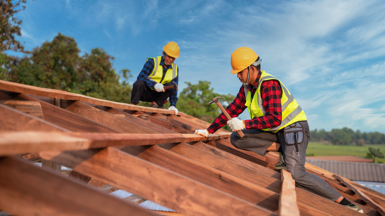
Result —
[{"label": "rafter starting right of the short post under the upper ridge board", "polygon": [[77,115],[83,116],[89,120],[95,121],[109,128],[113,128],[122,133],[157,133],[149,130],[142,125],[135,124],[131,121],[124,120],[115,115],[99,110],[95,107],[89,106],[80,101],[63,100],[62,108]]}]

